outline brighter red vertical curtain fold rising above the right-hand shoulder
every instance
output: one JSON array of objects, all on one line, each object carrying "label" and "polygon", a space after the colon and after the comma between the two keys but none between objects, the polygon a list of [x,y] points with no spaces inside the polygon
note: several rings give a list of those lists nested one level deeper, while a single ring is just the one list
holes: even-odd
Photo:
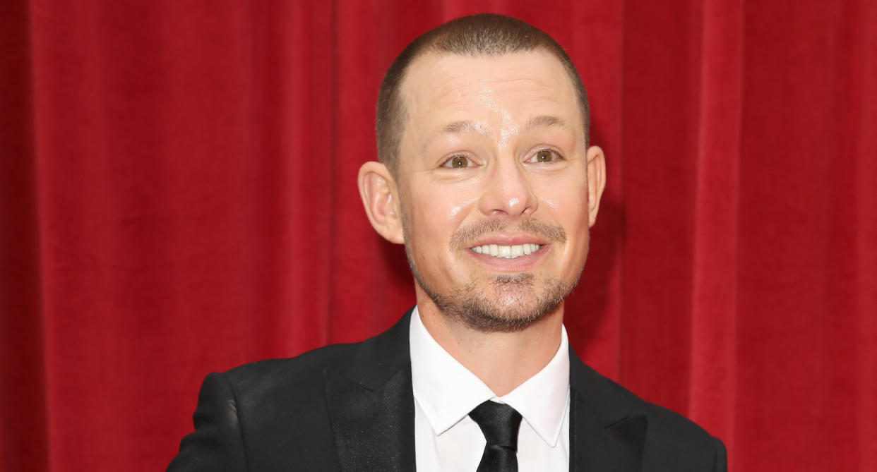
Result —
[{"label": "brighter red vertical curtain fold rising above the right-hand shoulder", "polygon": [[734,382],[743,89],[742,0],[710,0],[702,12],[700,123],[695,160],[692,259],[692,418],[734,444]]}]

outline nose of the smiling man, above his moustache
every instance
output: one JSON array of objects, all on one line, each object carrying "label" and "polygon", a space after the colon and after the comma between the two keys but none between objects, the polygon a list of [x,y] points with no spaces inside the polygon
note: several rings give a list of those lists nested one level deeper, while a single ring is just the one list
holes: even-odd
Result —
[{"label": "nose of the smiling man, above his moustache", "polygon": [[496,165],[486,175],[479,208],[483,215],[502,215],[509,218],[531,215],[538,207],[531,181],[524,166],[517,159],[496,159]]}]

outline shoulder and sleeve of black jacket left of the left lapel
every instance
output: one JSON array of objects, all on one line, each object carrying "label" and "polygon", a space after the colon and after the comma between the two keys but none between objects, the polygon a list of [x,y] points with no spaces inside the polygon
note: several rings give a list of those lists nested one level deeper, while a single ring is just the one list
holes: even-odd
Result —
[{"label": "shoulder and sleeve of black jacket left of the left lapel", "polygon": [[337,468],[323,371],[343,363],[355,346],[326,346],[209,374],[198,395],[195,431],[183,438],[168,471]]}]

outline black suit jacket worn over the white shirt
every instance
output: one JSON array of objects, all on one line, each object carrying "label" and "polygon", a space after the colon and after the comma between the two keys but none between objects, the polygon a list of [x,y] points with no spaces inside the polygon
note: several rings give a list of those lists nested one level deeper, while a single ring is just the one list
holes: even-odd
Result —
[{"label": "black suit jacket worn over the white shirt", "polygon": [[[388,331],[203,382],[168,472],[413,471],[410,310]],[[724,471],[722,442],[570,350],[572,471]]]}]

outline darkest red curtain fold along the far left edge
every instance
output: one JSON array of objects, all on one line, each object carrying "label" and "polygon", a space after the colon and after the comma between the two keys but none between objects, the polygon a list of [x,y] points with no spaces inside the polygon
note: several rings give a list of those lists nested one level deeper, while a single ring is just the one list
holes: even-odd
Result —
[{"label": "darkest red curtain fold along the far left edge", "polygon": [[42,283],[27,5],[0,4],[0,466],[47,470]]}]

